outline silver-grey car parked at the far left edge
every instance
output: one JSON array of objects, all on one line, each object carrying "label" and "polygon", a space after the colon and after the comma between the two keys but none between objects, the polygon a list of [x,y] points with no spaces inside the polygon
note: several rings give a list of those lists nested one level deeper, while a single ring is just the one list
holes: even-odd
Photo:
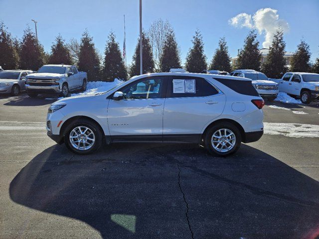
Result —
[{"label": "silver-grey car parked at the far left edge", "polygon": [[19,92],[25,91],[25,77],[31,73],[26,70],[0,71],[0,94],[17,96]]}]

